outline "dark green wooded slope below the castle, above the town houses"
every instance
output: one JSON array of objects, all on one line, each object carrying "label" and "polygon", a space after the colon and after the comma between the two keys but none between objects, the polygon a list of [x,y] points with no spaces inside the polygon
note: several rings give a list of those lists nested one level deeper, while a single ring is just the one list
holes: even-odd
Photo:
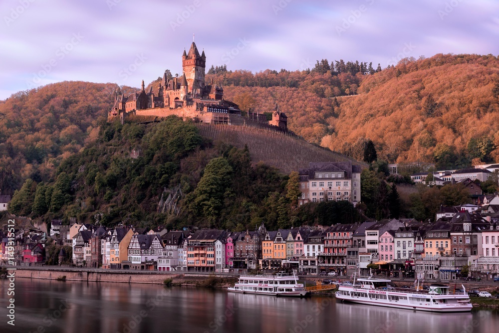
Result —
[{"label": "dark green wooded slope below the castle, above the town houses", "polygon": [[[66,157],[53,180],[26,179],[8,211],[49,222],[184,225],[243,231],[358,221],[349,202],[296,208],[297,173],[252,163],[248,149],[213,144],[175,116],[140,125],[101,123],[98,137]],[[172,204],[164,204],[174,196]]]}]

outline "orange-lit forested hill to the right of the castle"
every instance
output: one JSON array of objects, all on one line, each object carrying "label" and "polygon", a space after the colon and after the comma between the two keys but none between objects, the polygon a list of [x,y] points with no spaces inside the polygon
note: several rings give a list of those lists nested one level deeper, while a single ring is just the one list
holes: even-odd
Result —
[{"label": "orange-lit forested hill to the right of the castle", "polygon": [[357,160],[370,139],[389,163],[453,168],[470,166],[474,159],[499,162],[499,60],[493,55],[406,58],[355,75],[236,71],[213,77],[228,83],[228,99],[249,95],[259,112],[277,103],[291,131]]}]

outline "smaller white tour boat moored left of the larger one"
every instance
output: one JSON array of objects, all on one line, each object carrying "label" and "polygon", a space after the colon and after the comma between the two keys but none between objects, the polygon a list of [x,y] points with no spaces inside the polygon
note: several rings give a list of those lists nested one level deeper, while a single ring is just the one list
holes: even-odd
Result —
[{"label": "smaller white tour boat moored left of the larger one", "polygon": [[276,275],[242,275],[229,292],[270,296],[305,297],[308,295],[296,276],[279,272]]}]

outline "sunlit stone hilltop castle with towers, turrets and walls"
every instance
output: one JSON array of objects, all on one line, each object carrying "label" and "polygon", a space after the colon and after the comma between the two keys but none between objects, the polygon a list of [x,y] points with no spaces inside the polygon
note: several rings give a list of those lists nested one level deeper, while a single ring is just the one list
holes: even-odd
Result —
[{"label": "sunlit stone hilltop castle with towers, turrets and walls", "polygon": [[[168,79],[166,73],[157,88],[151,86],[147,92],[142,80],[142,89],[134,91],[128,96],[116,97],[112,109],[109,111],[108,120],[119,117],[123,123],[130,115],[168,117],[176,115],[195,122],[208,124],[246,124],[254,123],[253,120],[243,118],[238,105],[224,100],[222,86],[212,82],[205,83],[205,51],[199,54],[194,41],[187,53],[182,54],[181,77]],[[256,119],[265,119],[259,115]],[[254,118],[254,117],[253,117]],[[278,110],[272,113],[272,120],[256,123],[277,127],[287,131],[287,117]]]}]

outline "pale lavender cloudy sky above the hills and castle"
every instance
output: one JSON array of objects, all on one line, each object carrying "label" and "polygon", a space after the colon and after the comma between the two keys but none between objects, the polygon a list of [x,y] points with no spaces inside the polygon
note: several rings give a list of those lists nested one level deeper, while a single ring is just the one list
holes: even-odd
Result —
[{"label": "pale lavender cloudy sky above the hills and castle", "polygon": [[304,70],[437,53],[499,55],[497,0],[1,0],[0,100],[60,81],[140,87],[206,70]]}]

